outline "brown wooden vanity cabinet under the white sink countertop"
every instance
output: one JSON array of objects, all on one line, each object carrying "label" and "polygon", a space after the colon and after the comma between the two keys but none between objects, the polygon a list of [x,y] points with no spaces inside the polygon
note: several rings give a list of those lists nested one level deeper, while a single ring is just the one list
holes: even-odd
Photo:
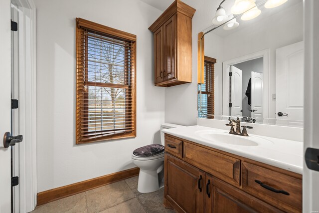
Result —
[{"label": "brown wooden vanity cabinet under the white sink countertop", "polygon": [[179,213],[302,211],[301,175],[168,134],[164,176]]}]

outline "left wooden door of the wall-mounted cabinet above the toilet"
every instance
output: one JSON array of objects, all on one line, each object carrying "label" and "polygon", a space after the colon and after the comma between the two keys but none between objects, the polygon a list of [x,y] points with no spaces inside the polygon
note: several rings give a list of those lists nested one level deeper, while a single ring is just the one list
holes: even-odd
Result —
[{"label": "left wooden door of the wall-mounted cabinet above the toilet", "polygon": [[161,26],[154,33],[154,67],[155,67],[155,83],[164,80],[163,75],[163,27]]}]

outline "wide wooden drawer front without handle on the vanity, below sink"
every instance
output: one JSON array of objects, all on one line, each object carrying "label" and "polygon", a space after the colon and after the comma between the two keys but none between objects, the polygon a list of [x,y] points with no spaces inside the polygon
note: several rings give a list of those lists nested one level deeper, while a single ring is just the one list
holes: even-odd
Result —
[{"label": "wide wooden drawer front without handle on the vanity, below sink", "polygon": [[183,158],[189,164],[235,186],[240,185],[240,160],[184,142]]}]

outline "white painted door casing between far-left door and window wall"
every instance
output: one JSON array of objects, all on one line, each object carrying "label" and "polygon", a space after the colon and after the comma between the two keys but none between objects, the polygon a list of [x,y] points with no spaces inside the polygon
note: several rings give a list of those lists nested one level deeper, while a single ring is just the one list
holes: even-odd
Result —
[{"label": "white painted door casing between far-left door and window wall", "polygon": [[19,168],[19,196],[15,212],[31,212],[36,207],[36,28],[33,0],[16,0],[19,11],[19,144],[14,161]]}]

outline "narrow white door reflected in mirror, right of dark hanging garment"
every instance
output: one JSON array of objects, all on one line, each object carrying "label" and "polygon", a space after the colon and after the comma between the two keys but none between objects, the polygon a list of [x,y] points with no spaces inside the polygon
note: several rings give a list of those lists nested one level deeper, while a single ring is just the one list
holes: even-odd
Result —
[{"label": "narrow white door reflected in mirror, right of dark hanging garment", "polygon": [[251,92],[250,92],[250,109],[251,117],[263,118],[263,99],[264,99],[264,73],[251,72]]}]

